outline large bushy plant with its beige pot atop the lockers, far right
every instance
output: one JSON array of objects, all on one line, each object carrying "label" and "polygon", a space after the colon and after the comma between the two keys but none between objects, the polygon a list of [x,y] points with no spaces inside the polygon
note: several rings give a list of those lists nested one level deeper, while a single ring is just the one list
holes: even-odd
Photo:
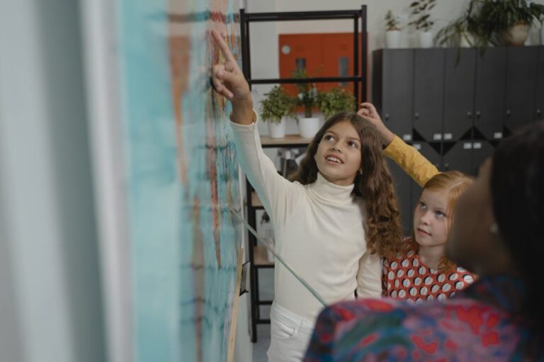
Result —
[{"label": "large bushy plant with its beige pot atop the lockers, far right", "polygon": [[533,21],[540,21],[544,5],[519,0],[471,0],[475,23],[469,30],[485,46],[523,45]]}]

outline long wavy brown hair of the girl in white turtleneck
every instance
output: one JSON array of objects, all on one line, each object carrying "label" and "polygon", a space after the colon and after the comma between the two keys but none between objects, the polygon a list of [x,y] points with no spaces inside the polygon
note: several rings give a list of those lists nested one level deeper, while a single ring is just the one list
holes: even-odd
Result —
[{"label": "long wavy brown hair of the girl in white turtleneck", "polygon": [[345,120],[351,123],[361,139],[361,173],[356,174],[353,192],[365,200],[367,249],[387,258],[395,256],[402,243],[395,186],[382,155],[378,132],[368,120],[357,113],[331,116],[310,142],[306,156],[289,179],[302,185],[315,182],[319,170],[314,156],[319,142],[329,128]]}]

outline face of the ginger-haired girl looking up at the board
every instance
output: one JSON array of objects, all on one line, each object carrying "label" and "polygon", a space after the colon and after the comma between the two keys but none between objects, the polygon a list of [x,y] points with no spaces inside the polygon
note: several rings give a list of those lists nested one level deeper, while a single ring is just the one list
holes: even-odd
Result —
[{"label": "face of the ginger-haired girl looking up at the board", "polygon": [[422,247],[446,244],[450,226],[448,195],[445,191],[424,189],[414,213],[414,234]]}]

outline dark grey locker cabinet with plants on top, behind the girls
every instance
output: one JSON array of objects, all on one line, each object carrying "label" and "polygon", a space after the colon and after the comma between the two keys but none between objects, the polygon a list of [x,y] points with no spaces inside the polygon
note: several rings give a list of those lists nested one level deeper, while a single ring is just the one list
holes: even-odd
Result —
[{"label": "dark grey locker cabinet with plants on top, behind the girls", "polygon": [[[544,119],[544,46],[376,50],[373,62],[385,125],[440,171],[476,175],[503,137]],[[408,233],[421,188],[391,169]]]}]

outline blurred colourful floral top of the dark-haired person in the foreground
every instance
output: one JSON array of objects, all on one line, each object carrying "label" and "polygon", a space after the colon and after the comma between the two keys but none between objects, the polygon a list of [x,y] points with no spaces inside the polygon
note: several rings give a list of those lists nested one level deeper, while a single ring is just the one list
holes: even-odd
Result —
[{"label": "blurred colourful floral top of the dark-haired person in the foreground", "polygon": [[340,302],[319,315],[304,361],[544,361],[525,300],[521,279],[494,276],[449,300]]}]

